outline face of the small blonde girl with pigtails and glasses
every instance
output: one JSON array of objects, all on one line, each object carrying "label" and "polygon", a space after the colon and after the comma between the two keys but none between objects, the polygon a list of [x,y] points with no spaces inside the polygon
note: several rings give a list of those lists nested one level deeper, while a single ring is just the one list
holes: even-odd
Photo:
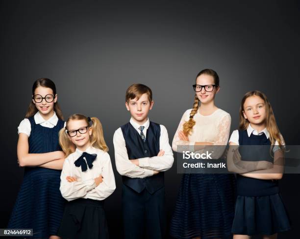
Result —
[{"label": "face of the small blonde girl with pigtails and glasses", "polygon": [[[85,127],[88,125],[89,124],[84,119],[69,120],[67,124],[67,130],[69,131],[69,134],[72,134],[74,133],[74,130],[79,130],[79,129],[81,129],[80,131],[83,132],[86,130]],[[81,151],[84,151],[88,147],[90,147],[90,135],[92,135],[92,129],[88,127],[85,133],[80,133],[80,131],[76,131],[76,135],[73,137],[71,137],[68,134],[68,137],[72,141],[72,143],[75,144],[76,148],[78,148]]]}]

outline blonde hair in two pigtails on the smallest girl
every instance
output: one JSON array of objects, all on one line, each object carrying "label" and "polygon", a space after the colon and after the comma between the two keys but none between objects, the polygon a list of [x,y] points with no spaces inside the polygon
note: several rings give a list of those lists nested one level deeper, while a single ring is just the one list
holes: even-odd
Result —
[{"label": "blonde hair in two pigtails on the smallest girl", "polygon": [[90,136],[91,146],[93,146],[94,148],[103,150],[104,152],[108,152],[108,147],[104,140],[103,129],[102,129],[100,120],[96,117],[92,117],[90,119],[91,119],[91,123],[89,122],[89,119],[85,115],[73,114],[66,121],[66,127],[62,128],[59,131],[59,144],[60,144],[63,152],[66,154],[66,157],[70,153],[72,153],[72,148],[75,148],[75,145],[69,139],[67,132],[66,132],[66,130],[68,128],[68,123],[70,122],[70,120],[85,120],[86,123],[92,129],[92,135]]}]

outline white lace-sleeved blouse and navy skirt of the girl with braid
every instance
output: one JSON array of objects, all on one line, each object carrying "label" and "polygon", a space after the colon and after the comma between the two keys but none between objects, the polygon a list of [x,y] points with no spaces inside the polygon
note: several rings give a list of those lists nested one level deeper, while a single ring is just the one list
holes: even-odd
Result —
[{"label": "white lace-sleeved blouse and navy skirt of the girl with braid", "polygon": [[[195,125],[189,141],[181,140],[179,132],[189,121],[192,109],[184,112],[173,139],[173,149],[182,152],[182,146],[195,142],[227,145],[231,117],[222,109],[210,115],[194,115]],[[223,151],[215,152],[220,158]],[[235,177],[233,174],[183,174],[171,219],[170,235],[177,239],[232,239],[234,216]]]}]

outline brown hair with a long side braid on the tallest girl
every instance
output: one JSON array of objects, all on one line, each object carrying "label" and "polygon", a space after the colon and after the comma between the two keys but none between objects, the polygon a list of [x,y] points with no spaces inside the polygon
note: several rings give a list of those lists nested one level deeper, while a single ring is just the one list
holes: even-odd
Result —
[{"label": "brown hair with a long side braid on the tallest girl", "polygon": [[[214,78],[214,82],[215,82],[215,85],[218,87],[219,84],[220,84],[220,79],[219,79],[219,76],[217,74],[216,71],[212,70],[212,69],[204,69],[204,70],[201,70],[197,76],[196,76],[196,81],[197,81],[197,78],[202,75],[202,74],[205,74],[205,75],[209,75],[209,76],[212,76]],[[190,119],[185,122],[183,124],[183,132],[185,135],[188,135],[190,133],[192,133],[192,130],[193,130],[193,127],[194,125],[196,124],[196,121],[194,120],[194,115],[197,113],[198,111],[198,108],[199,108],[199,102],[200,100],[198,99],[198,96],[197,94],[195,94],[195,98],[194,98],[194,103],[193,103],[193,109],[190,113]]]}]

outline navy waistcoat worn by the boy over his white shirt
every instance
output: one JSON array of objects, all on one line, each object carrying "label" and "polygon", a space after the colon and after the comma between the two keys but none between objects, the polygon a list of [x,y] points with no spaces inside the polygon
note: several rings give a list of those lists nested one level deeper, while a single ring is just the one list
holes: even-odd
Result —
[{"label": "navy waistcoat worn by the boy over his white shirt", "polygon": [[[159,152],[160,126],[150,122],[144,142],[137,130],[128,122],[121,126],[129,159],[157,156]],[[130,178],[122,176],[123,183],[141,193],[145,188],[150,194],[164,186],[164,172],[146,178]]]}]

